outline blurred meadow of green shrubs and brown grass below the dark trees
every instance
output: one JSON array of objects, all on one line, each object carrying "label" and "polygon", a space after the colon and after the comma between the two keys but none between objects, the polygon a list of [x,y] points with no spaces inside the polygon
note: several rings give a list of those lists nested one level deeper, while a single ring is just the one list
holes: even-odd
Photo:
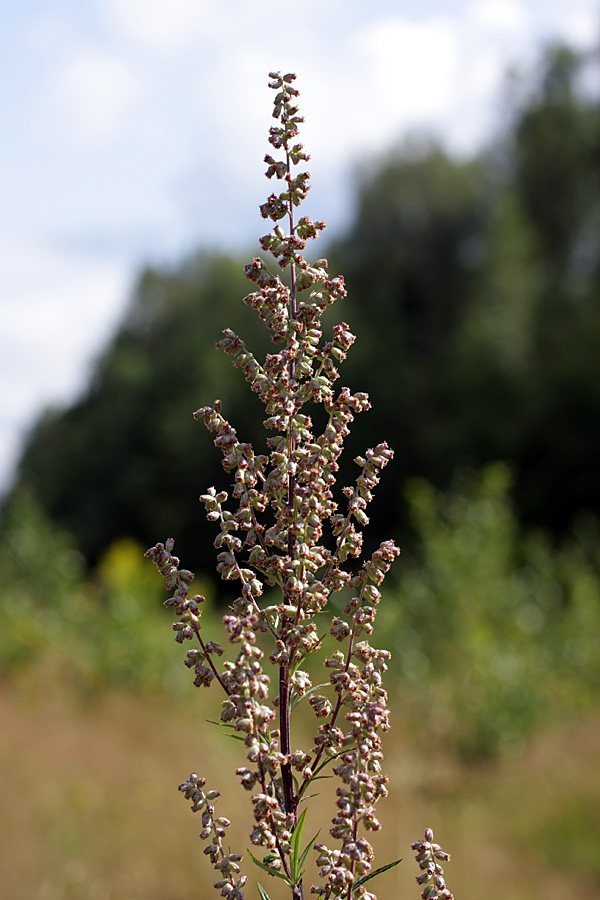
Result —
[{"label": "blurred meadow of green shrubs and brown grass below the dark trees", "polygon": [[[394,655],[375,846],[381,863],[404,860],[381,897],[414,895],[409,844],[432,824],[457,897],[600,896],[598,535],[588,521],[559,552],[524,538],[508,485],[497,464],[448,494],[408,490],[418,558],[398,566],[378,631]],[[210,724],[219,699],[191,685],[142,547],[116,541],[90,575],[30,497],[7,528],[3,896],[211,896],[199,821],[176,788],[190,771],[218,786],[243,852],[238,744]],[[218,637],[214,600],[203,622]],[[311,825],[325,831],[324,784]]]}]

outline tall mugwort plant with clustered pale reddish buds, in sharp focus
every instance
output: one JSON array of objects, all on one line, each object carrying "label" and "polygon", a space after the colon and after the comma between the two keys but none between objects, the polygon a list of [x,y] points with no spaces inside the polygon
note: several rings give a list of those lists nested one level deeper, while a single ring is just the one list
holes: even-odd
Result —
[{"label": "tall mugwort plant with clustered pale reddish buds, in sharp focus", "polygon": [[[177,615],[176,640],[193,644],[185,664],[193,670],[194,684],[217,688],[221,723],[243,738],[245,761],[237,776],[251,795],[254,814],[249,857],[282,879],[293,900],[301,900],[303,873],[314,852],[320,883],[311,887],[313,893],[322,900],[371,900],[365,883],[389,868],[373,869],[368,840],[380,827],[376,803],[387,794],[381,734],[389,728],[382,686],[389,653],[372,647],[369,639],[382,581],[400,551],[393,541],[384,541],[362,559],[362,529],[392,451],[381,443],[356,457],[356,481],[343,488],[338,504],[333,488],[344,440],[354,416],[369,408],[369,399],[334,387],[354,335],[342,323],[324,338],[321,317],[345,296],[344,280],[330,277],[326,260],[311,264],[303,255],[307,241],[317,238],[325,224],[297,217],[310,175],[303,168],[309,157],[297,142],[303,119],[295,76],[271,72],[269,77],[277,124],[269,133],[276,156],[265,157],[266,176],[282,190],[260,207],[273,223],[260,245],[284,277],[257,257],[245,269],[255,290],[244,302],[256,310],[280,349],[259,362],[228,328],[217,344],[265,406],[268,455],[256,454],[238,438],[219,401],[194,414],[214,434],[223,468],[233,476],[229,492],[211,487],[200,498],[219,530],[214,545],[220,577],[238,584],[239,596],[223,617],[229,654],[205,637],[200,624],[204,598],[192,594],[193,575],[180,568],[173,541],[157,544],[147,556],[172,594],[165,605]],[[317,405],[324,411],[320,433],[310,416]],[[313,686],[302,665],[322,642],[318,614],[342,590],[349,597],[343,613],[329,620],[339,649],[323,660],[327,682]],[[271,644],[268,657],[258,633],[263,646]],[[319,722],[308,749],[292,740],[291,712],[302,697]],[[338,780],[333,843],[327,844],[317,842],[318,835],[303,841],[306,800],[323,774]],[[219,873],[215,887],[228,900],[242,900],[247,875],[241,873],[242,856],[225,844],[230,823],[215,812],[219,792],[205,789],[204,779],[195,774],[179,789],[201,813],[200,836],[208,841],[204,852]],[[435,877],[432,870],[422,896],[450,897],[436,892]],[[265,900],[264,888],[259,891]]]}]

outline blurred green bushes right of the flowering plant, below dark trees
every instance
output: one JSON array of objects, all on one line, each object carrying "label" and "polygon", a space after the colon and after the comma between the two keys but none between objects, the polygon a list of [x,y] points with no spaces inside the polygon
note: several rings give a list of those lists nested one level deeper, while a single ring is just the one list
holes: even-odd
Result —
[{"label": "blurred green bushes right of the flowering plant, below dark trees", "polygon": [[448,494],[413,481],[419,538],[382,610],[409,701],[467,758],[518,748],[547,715],[597,701],[600,559],[591,522],[562,548],[523,535],[502,464]]}]

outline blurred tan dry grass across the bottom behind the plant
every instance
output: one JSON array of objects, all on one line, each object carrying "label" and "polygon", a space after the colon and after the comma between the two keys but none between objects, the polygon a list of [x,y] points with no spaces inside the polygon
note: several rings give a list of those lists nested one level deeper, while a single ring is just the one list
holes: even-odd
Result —
[{"label": "blurred tan dry grass across the bottom behind the plant", "polygon": [[[176,786],[196,770],[223,787],[239,745],[215,740],[202,697],[190,693],[188,711],[132,694],[84,702],[37,679],[0,689],[3,900],[217,897],[200,823]],[[600,898],[600,716],[488,769],[461,768],[439,747],[419,754],[394,724],[378,864],[404,862],[373,885],[381,900],[417,900],[409,844],[428,825],[452,853],[457,900]],[[222,809],[231,818],[248,805],[233,781]],[[328,814],[323,805],[324,830]],[[231,832],[244,851],[245,828]]]}]

